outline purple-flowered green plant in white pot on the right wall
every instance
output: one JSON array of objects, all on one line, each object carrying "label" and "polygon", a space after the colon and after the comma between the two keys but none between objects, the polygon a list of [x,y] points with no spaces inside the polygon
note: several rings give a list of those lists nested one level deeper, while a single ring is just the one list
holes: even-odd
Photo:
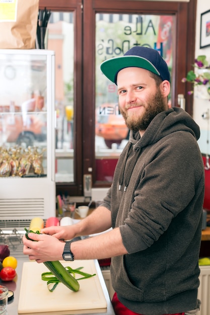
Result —
[{"label": "purple-flowered green plant in white pot on the right wall", "polygon": [[195,91],[196,97],[210,100],[210,65],[206,60],[206,56],[198,56],[193,67],[194,70],[190,70],[186,77],[182,78],[183,83],[190,82],[192,87],[195,87],[195,90],[192,89],[187,93],[191,95]]}]

